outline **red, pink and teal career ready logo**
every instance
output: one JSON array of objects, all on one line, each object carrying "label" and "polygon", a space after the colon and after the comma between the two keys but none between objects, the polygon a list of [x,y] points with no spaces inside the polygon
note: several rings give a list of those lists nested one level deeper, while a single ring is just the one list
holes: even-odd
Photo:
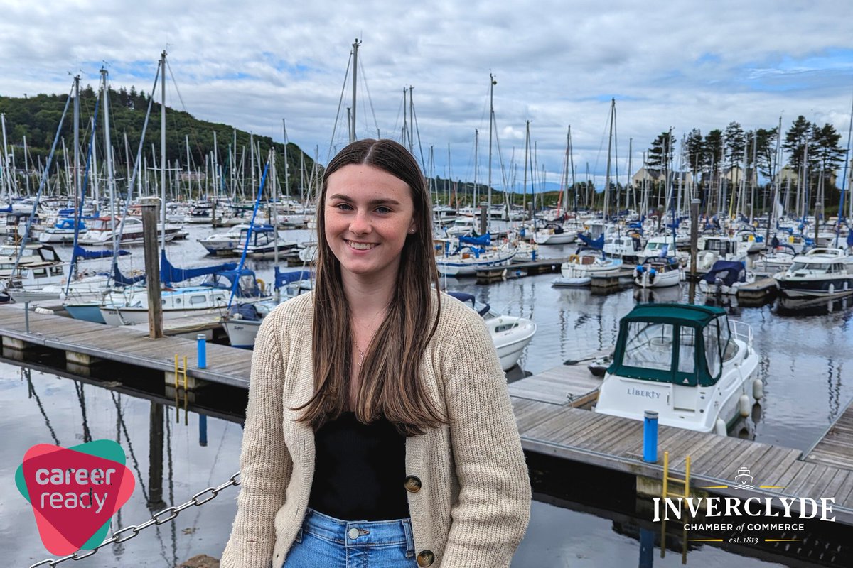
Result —
[{"label": "red, pink and teal career ready logo", "polygon": [[65,555],[104,541],[136,480],[125,466],[125,450],[99,439],[72,448],[32,446],[15,472],[15,485],[32,505],[44,547]]}]

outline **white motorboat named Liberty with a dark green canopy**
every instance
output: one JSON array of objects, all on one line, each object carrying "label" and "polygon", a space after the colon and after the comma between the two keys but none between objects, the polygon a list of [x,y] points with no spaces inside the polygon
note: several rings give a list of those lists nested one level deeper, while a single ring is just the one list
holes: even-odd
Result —
[{"label": "white motorboat named Liberty with a dark green canopy", "polygon": [[721,307],[640,304],[619,321],[595,412],[725,435],[763,397],[752,329]]}]

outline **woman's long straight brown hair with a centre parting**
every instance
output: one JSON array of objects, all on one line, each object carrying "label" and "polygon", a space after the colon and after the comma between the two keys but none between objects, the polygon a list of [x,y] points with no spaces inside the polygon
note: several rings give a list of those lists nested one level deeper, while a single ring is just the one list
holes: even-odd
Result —
[{"label": "woman's long straight brown hair with a centre parting", "polygon": [[351,313],[340,278],[340,262],[325,238],[325,201],[329,175],[351,164],[382,169],[408,184],[415,204],[416,227],[406,236],[400,253],[397,285],[385,321],[364,355],[357,404],[352,410],[361,422],[385,416],[407,435],[423,433],[427,427],[447,422],[429,399],[420,371],[421,358],[438,327],[438,315],[433,317],[432,312],[433,299],[438,310],[441,301],[432,243],[432,207],[426,180],[415,158],[391,140],[353,142],[332,159],[323,174],[316,209],[317,272],[311,327],[315,392],[300,407],[305,411],[299,419],[320,427],[339,416],[348,399]]}]

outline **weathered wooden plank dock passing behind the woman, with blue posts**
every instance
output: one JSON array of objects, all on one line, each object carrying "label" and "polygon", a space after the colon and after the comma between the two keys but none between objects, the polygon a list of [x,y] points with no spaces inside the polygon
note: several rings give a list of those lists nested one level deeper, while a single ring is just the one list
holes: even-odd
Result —
[{"label": "weathered wooden plank dock passing behind the woman, with blue posts", "polygon": [[[189,362],[188,375],[207,382],[247,388],[252,353],[207,345],[207,368],[196,368],[196,341],[182,337],[152,340],[147,330],[107,327],[44,313],[30,313],[26,332],[18,307],[0,307],[0,337],[8,351],[39,346],[66,353],[69,367],[81,360],[109,359],[173,373],[174,355]],[[577,408],[595,399],[600,379],[586,361],[561,365],[508,385],[525,450],[583,462],[599,468],[661,479],[664,451],[670,469],[683,474],[691,457],[692,485],[721,496],[833,497],[838,523],[853,525],[853,410],[848,407],[827,435],[802,459],[800,450],[751,440],[659,427],[659,462],[642,461],[642,422]],[[168,382],[168,381],[167,381]],[[734,489],[742,466],[755,479],[752,490]],[[759,485],[770,485],[763,488]],[[799,510],[794,502],[793,511]]]}]

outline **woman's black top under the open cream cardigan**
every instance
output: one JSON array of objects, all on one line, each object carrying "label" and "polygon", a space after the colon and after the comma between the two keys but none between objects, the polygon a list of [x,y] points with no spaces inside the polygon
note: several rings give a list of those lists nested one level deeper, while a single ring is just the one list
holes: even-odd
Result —
[{"label": "woman's black top under the open cream cardigan", "polygon": [[308,506],[341,520],[409,517],[406,438],[384,417],[370,424],[344,412],[314,435],[316,465]]}]

